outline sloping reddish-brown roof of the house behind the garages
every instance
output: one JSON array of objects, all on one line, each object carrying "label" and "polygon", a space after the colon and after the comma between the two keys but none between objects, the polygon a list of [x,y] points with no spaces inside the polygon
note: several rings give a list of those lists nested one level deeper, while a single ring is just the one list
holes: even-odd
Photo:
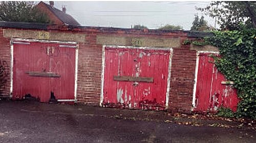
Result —
[{"label": "sloping reddish-brown roof of the house behind the garages", "polygon": [[51,7],[50,5],[48,5],[44,2],[40,2],[40,3],[44,4],[63,23],[65,23],[67,25],[80,25],[71,15],[69,15],[65,12],[62,12],[54,7]]}]

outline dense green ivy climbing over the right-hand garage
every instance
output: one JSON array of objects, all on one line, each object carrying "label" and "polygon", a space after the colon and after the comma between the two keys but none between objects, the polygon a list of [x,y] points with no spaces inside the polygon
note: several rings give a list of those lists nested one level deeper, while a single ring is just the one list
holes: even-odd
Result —
[{"label": "dense green ivy climbing over the right-hand garage", "polygon": [[236,116],[256,119],[256,29],[214,33],[205,41],[219,47],[221,58],[215,57],[215,64],[238,89],[241,101]]}]

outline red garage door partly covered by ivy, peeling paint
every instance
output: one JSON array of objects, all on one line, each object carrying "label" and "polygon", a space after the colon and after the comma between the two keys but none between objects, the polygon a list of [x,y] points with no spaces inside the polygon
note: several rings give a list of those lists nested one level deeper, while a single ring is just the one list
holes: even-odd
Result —
[{"label": "red garage door partly covered by ivy, peeling paint", "polygon": [[226,84],[225,76],[217,70],[211,55],[211,53],[199,54],[194,110],[217,111],[223,106],[236,111],[237,91],[231,84]]}]

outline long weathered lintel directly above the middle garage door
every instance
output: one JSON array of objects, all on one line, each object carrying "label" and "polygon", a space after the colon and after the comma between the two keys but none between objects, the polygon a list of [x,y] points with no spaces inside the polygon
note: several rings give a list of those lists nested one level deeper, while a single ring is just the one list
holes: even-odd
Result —
[{"label": "long weathered lintel directly above the middle garage door", "polygon": [[97,44],[102,45],[125,45],[125,46],[145,46],[145,47],[172,47],[181,46],[180,38],[147,38],[147,37],[117,37],[98,35]]}]

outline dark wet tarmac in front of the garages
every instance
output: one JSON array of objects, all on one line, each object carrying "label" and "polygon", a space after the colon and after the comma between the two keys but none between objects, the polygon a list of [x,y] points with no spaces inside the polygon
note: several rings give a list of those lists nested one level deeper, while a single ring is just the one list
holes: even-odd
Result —
[{"label": "dark wet tarmac in front of the garages", "polygon": [[[166,112],[0,101],[0,142],[255,142],[251,128],[179,125]],[[191,120],[189,120],[191,121]],[[187,122],[187,121],[183,121]],[[212,123],[204,121],[203,123]],[[221,121],[215,121],[221,122]],[[178,122],[179,123],[179,122]],[[212,124],[215,125],[216,123]],[[197,125],[197,124],[195,124]]]}]

